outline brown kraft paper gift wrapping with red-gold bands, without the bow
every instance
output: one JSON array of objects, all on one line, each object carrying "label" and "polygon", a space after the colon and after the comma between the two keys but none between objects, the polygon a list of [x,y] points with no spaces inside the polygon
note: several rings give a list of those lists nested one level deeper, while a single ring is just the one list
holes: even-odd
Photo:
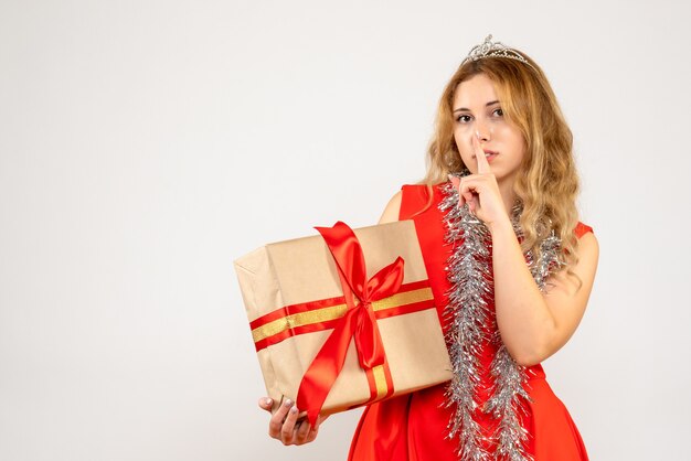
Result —
[{"label": "brown kraft paper gift wrapping with red-gold bands, without the bow", "polygon": [[[448,352],[432,290],[425,282],[427,274],[414,223],[402,221],[362,227],[354,233],[364,254],[368,277],[398,256],[405,261],[401,292],[372,305],[393,382],[393,390],[387,395],[450,379]],[[295,401],[302,375],[331,334],[333,322],[347,309],[338,269],[325,240],[313,236],[258,248],[238,258],[235,270],[247,319],[254,323],[251,328],[257,356],[275,409],[285,398]],[[405,312],[423,304],[423,310]],[[392,314],[398,311],[403,313]],[[371,400],[371,384],[360,367],[351,339],[343,369],[321,412],[342,411]]]}]

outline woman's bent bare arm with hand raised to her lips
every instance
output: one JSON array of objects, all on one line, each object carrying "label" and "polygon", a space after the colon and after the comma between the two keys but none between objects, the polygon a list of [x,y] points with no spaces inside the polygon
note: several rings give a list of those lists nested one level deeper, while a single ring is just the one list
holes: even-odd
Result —
[{"label": "woman's bent bare arm with hand raised to her lips", "polygon": [[468,204],[492,235],[495,305],[501,340],[521,365],[534,365],[559,351],[573,335],[583,318],[597,269],[598,246],[593,234],[580,239],[578,262],[572,271],[583,285],[565,272],[548,280],[542,293],[525,265],[499,184],[479,140],[472,138],[477,173],[453,178],[459,206]]}]

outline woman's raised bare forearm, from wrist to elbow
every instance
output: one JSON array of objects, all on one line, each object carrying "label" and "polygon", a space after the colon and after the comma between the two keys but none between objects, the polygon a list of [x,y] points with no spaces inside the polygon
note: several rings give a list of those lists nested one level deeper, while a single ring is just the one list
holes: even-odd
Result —
[{"label": "woman's raised bare forearm, from wrist to elbow", "polygon": [[501,339],[511,356],[532,365],[549,356],[556,324],[535,283],[509,219],[490,225],[495,307]]}]

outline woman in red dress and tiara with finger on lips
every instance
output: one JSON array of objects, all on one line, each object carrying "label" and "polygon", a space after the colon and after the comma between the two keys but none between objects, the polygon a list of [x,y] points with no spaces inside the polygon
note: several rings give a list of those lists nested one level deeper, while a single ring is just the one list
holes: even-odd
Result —
[{"label": "woman in red dress and tiara with finger on lips", "polygon": [[[597,267],[577,189],[546,77],[490,35],[442,96],[424,184],[403,186],[381,219],[415,222],[455,377],[368,406],[349,459],[587,460],[540,365],[574,333]],[[320,421],[297,415],[287,403],[269,435],[313,440]]]}]

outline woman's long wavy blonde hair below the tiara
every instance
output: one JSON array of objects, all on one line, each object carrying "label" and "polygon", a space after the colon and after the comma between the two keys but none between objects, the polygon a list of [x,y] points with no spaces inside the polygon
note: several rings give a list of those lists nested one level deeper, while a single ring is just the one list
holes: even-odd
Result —
[{"label": "woman's long wavy blonde hair below the tiara", "polygon": [[435,131],[427,150],[426,184],[447,181],[448,173],[465,164],[454,141],[454,96],[458,85],[483,74],[495,84],[507,120],[515,125],[525,142],[521,173],[513,186],[522,205],[521,247],[541,256],[540,242],[552,230],[562,240],[567,274],[576,262],[578,176],[573,158],[573,136],[554,92],[542,69],[506,57],[483,57],[461,64],[446,85],[437,110]]}]

